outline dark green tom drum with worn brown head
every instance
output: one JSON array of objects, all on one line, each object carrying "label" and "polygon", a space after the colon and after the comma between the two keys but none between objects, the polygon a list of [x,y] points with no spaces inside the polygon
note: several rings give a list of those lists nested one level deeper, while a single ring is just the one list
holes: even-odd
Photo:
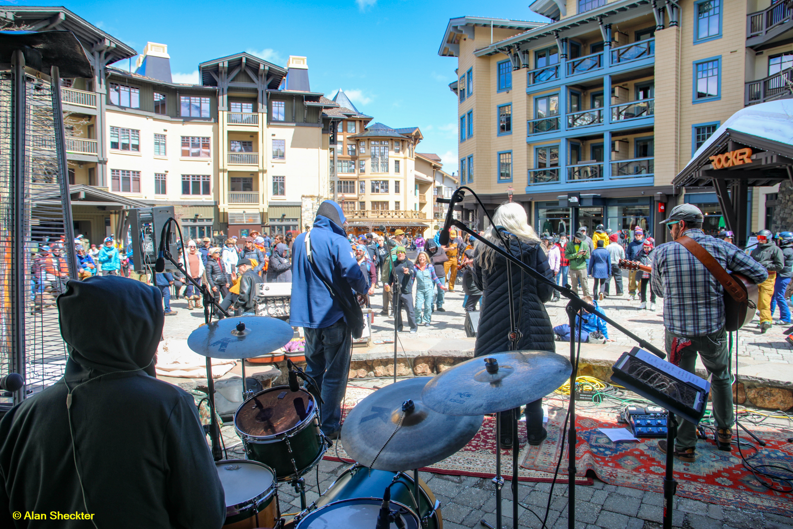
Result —
[{"label": "dark green tom drum with worn brown head", "polygon": [[256,393],[234,414],[234,427],[247,458],[270,466],[278,481],[307,473],[328,450],[319,408],[305,389],[278,385]]}]

